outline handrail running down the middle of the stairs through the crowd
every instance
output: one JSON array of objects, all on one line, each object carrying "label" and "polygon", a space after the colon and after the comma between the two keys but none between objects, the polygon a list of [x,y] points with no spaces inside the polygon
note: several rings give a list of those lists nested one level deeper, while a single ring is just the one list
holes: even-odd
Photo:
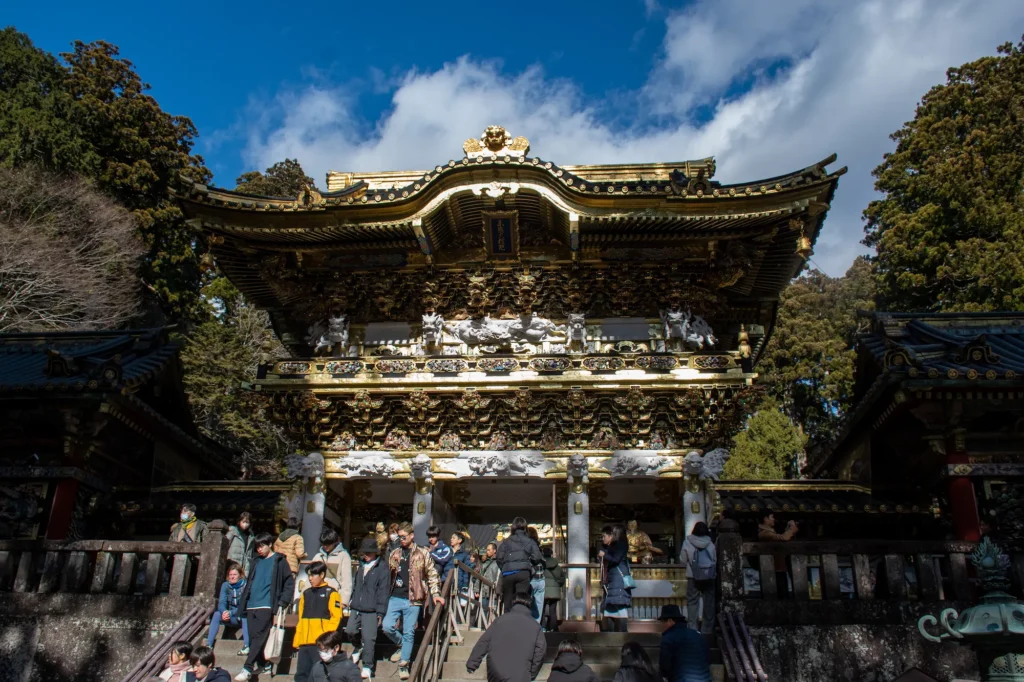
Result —
[{"label": "handrail running down the middle of the stairs through the crowd", "polygon": [[[470,587],[466,592],[459,590],[460,570],[469,574]],[[473,588],[474,582],[480,587],[478,591]],[[483,596],[484,588],[486,596]],[[486,630],[502,610],[498,584],[461,561],[455,562],[455,568],[444,579],[440,594],[444,603],[430,612],[423,641],[410,671],[412,682],[437,682],[449,647],[453,642],[461,644],[465,641],[462,628]]]}]

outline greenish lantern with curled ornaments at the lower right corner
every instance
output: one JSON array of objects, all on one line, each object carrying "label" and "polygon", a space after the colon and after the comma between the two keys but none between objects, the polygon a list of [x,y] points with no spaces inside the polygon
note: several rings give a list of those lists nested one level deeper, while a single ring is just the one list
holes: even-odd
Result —
[{"label": "greenish lantern with curled ornaments at the lower right corner", "polygon": [[[918,621],[922,637],[930,642],[959,640],[978,654],[978,667],[984,682],[1024,682],[1024,604],[1006,590],[1010,559],[985,538],[971,555],[984,592],[980,603],[957,613],[945,608],[936,619],[925,615]],[[933,635],[928,628],[941,624],[945,632]]]}]

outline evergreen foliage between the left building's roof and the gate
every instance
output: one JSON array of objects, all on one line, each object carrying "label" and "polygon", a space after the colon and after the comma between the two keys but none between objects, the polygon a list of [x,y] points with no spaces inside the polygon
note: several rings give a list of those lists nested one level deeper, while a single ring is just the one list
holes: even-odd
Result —
[{"label": "evergreen foliage between the left building's roof and the gate", "polygon": [[220,319],[193,330],[181,352],[185,392],[199,429],[234,451],[244,476],[270,475],[295,445],[242,384],[255,380],[259,363],[283,348],[265,311],[241,296],[223,309]]}]

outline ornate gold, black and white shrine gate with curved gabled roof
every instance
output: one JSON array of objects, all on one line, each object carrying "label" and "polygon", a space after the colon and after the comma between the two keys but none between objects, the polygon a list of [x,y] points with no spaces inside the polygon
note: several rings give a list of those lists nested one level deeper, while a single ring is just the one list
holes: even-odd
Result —
[{"label": "ornate gold, black and white shrine gate with curved gabled roof", "polygon": [[518,479],[548,481],[571,564],[592,517],[646,504],[677,543],[714,517],[701,481],[723,461],[706,453],[740,425],[845,169],[723,185],[712,159],[559,167],[528,147],[493,126],[458,161],[332,172],[296,199],[176,189],[293,355],[254,390],[312,454],[291,463],[307,545],[325,496],[346,530],[384,500],[378,517],[411,505],[422,532],[453,509],[494,524],[529,495],[493,481]]}]

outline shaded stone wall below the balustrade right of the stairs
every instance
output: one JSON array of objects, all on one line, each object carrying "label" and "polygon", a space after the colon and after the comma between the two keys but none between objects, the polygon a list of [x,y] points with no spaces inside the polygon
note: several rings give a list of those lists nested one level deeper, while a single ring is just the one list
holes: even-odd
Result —
[{"label": "shaded stone wall below the balustrade right of the stairs", "polygon": [[911,668],[942,680],[978,680],[974,652],[932,644],[916,627],[841,625],[752,627],[771,682],[891,682]]}]

